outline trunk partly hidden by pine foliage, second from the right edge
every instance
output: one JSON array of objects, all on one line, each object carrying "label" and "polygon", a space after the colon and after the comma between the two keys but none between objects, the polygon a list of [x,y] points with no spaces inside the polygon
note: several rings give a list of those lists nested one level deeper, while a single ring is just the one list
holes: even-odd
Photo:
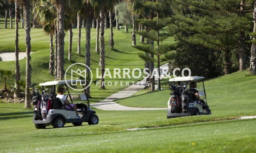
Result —
[{"label": "trunk partly hidden by pine foliage, second from the right edge", "polygon": [[[240,17],[245,16],[244,12],[245,0],[242,0],[240,3]],[[246,69],[245,63],[245,31],[239,30],[239,42],[238,42],[238,52],[239,52],[239,71]]]}]

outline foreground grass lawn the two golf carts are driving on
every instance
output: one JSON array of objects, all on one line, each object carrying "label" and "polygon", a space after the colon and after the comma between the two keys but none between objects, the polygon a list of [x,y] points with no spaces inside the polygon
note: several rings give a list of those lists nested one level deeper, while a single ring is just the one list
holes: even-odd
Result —
[{"label": "foreground grass lawn the two golf carts are driving on", "polygon": [[[22,107],[22,104],[0,103],[1,152],[256,151],[256,119],[198,123],[218,115],[165,119],[165,111],[96,110],[98,125],[66,124],[60,129],[37,130],[32,123],[33,112]],[[164,122],[171,126],[158,127]],[[158,128],[126,129],[149,124]]]}]

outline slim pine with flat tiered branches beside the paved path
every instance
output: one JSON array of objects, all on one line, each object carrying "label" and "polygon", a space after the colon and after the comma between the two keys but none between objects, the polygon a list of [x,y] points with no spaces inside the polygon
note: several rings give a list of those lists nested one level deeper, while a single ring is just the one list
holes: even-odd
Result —
[{"label": "slim pine with flat tiered branches beside the paved path", "polygon": [[[162,61],[167,61],[166,58],[164,58],[163,56],[161,57],[161,55],[167,54],[168,52],[175,49],[175,45],[173,44],[160,45],[160,42],[164,41],[169,37],[169,34],[165,32],[160,33],[160,30],[171,24],[172,20],[171,18],[159,17],[159,13],[161,13],[167,7],[166,3],[146,2],[144,3],[144,6],[153,10],[156,13],[157,17],[154,19],[145,19],[140,22],[142,25],[150,28],[150,31],[136,31],[136,33],[142,35],[144,38],[148,38],[151,41],[156,41],[157,46],[156,48],[154,47],[154,45],[135,45],[134,47],[146,53],[157,56],[157,59],[154,59],[154,57],[151,57],[149,54],[138,54],[138,56],[145,61],[156,62],[158,64],[158,76],[160,76],[160,63]],[[158,77],[158,90],[161,90],[160,77]]]}]

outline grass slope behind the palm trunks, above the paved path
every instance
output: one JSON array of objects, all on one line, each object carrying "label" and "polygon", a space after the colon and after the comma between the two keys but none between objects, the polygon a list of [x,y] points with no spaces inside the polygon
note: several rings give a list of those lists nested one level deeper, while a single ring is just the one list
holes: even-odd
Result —
[{"label": "grass slope behind the palm trunks, above the paved path", "polygon": [[[20,32],[20,41],[19,46],[21,51],[25,51],[25,42],[24,42],[24,32],[23,29],[19,29]],[[66,70],[71,64],[74,63],[85,63],[85,29],[82,29],[81,36],[81,55],[78,55],[77,52],[77,29],[73,29],[73,45],[72,45],[72,60],[68,61],[68,38],[65,38],[65,67]],[[109,30],[105,30],[105,68],[109,68],[110,73],[113,76],[113,69],[120,68],[121,76],[123,73],[123,68],[144,68],[144,61],[141,60],[137,53],[140,52],[135,48],[131,47],[131,34],[121,31],[114,30],[114,41],[115,49],[110,50],[107,47]],[[107,96],[118,92],[119,90],[125,88],[125,82],[128,81],[129,84],[132,84],[131,81],[137,82],[141,80],[138,79],[114,79],[114,78],[105,78],[105,82],[112,82],[113,84],[118,82],[116,86],[106,86],[106,90],[99,90],[99,86],[96,86],[96,68],[99,68],[99,54],[95,52],[95,34],[96,30],[92,29],[91,32],[91,70],[93,73],[93,82],[91,84],[91,96],[92,102],[98,102],[102,99],[105,99]],[[0,52],[1,51],[14,51],[14,29],[0,29]],[[32,83],[42,83],[46,81],[54,80],[52,75],[48,74],[49,68],[49,37],[44,35],[42,29],[31,29],[31,48],[32,51],[35,51],[31,54],[31,65],[32,65]],[[15,67],[14,61],[0,61],[1,69],[13,69]],[[26,73],[26,61],[25,59],[20,60],[20,73],[21,79],[25,80]],[[130,73],[131,75],[131,73]],[[138,75],[138,71],[135,72],[135,75]],[[124,83],[121,86],[121,81]],[[14,82],[7,83],[7,86],[14,86]]]}]

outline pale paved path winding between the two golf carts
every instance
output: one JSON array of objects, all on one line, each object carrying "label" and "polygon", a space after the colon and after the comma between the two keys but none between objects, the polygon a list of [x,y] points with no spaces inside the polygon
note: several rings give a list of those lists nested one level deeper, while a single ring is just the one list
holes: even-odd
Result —
[{"label": "pale paved path winding between the two golf carts", "polygon": [[[160,73],[162,72],[163,68],[168,68],[168,65],[167,64],[162,65],[160,67]],[[132,94],[140,91],[141,89],[144,89],[146,86],[145,82],[146,82],[146,79],[143,79],[143,80],[139,81],[138,83],[135,83],[134,86],[132,86],[132,85],[128,86],[127,88],[122,89],[121,91],[114,93],[111,96],[108,96],[106,99],[104,99],[100,102],[92,103],[90,105],[95,108],[102,109],[105,111],[166,110],[167,108],[126,107],[126,106],[119,105],[119,104],[113,102],[113,100],[115,100],[115,99],[129,97]]]}]

